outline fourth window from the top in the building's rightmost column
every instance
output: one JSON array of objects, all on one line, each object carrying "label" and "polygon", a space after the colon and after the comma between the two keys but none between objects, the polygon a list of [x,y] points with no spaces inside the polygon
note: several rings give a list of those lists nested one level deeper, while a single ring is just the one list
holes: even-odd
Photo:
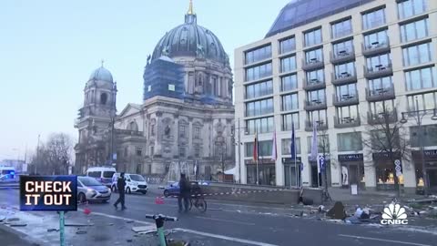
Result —
[{"label": "fourth window from the top in the building's rightmost column", "polygon": [[437,69],[425,67],[405,72],[407,90],[437,87]]}]

